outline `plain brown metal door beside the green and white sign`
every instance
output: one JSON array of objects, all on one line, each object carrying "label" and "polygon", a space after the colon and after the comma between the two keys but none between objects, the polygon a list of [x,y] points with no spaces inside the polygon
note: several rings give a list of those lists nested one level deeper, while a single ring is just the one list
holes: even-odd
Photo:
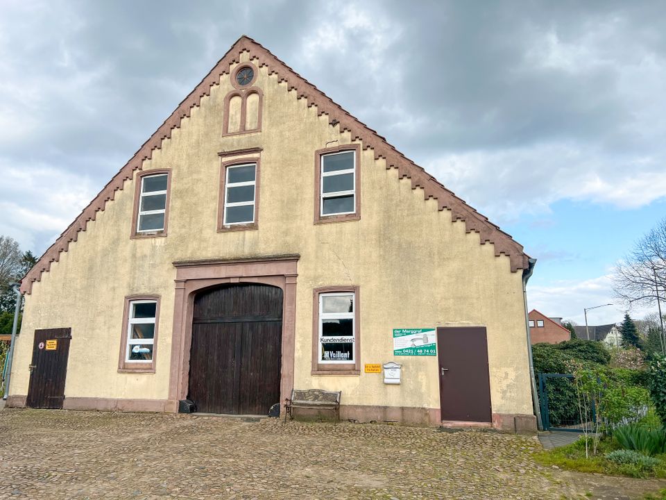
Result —
[{"label": "plain brown metal door beside the green and white sign", "polygon": [[437,328],[442,420],[491,422],[484,326]]}]

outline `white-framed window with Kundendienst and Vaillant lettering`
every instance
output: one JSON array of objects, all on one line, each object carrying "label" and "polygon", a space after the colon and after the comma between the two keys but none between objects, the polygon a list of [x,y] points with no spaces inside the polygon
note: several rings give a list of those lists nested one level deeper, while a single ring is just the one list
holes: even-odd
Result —
[{"label": "white-framed window with Kundendienst and Vaillant lettering", "polygon": [[354,292],[319,294],[318,363],[355,363]]}]

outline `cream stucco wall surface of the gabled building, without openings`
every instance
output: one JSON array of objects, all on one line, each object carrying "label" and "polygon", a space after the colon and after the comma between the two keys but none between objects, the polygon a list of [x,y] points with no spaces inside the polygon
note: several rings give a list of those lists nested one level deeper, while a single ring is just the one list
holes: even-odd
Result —
[{"label": "cream stucco wall surface of the gabled building, without openings", "polygon": [[[248,60],[248,53],[241,58]],[[137,183],[125,181],[33,283],[15,350],[14,401],[28,393],[35,329],[57,327],[71,327],[66,399],[169,401],[173,262],[297,254],[294,387],[341,390],[350,407],[422,408],[432,421],[440,408],[437,358],[395,358],[391,329],[486,326],[493,414],[532,415],[522,272],[511,272],[509,257],[495,256],[493,244],[480,244],[479,234],[452,222],[449,210],[424,200],[409,178],[399,178],[398,169],[386,169],[362,141],[318,116],[316,106],[298,99],[268,67],[259,68],[253,85],[263,92],[262,131],[221,134],[224,99],[233,90],[223,75],[144,160],[144,172],[171,169],[166,237],[130,238]],[[314,224],[314,151],[351,142],[361,144],[361,217]],[[262,149],[259,227],[219,232],[218,153],[247,148]],[[311,374],[313,290],[332,285],[359,287],[361,366],[402,363],[400,385],[362,369],[352,376]],[[155,373],[118,370],[123,303],[133,294],[160,296]]]}]

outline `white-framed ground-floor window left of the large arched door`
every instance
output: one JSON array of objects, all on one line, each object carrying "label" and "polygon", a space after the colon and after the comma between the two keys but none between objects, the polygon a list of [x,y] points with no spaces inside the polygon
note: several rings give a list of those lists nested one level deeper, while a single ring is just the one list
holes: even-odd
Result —
[{"label": "white-framed ground-floor window left of the large arched door", "polygon": [[153,360],[155,344],[155,313],[157,301],[133,300],[127,321],[126,363],[146,363]]}]

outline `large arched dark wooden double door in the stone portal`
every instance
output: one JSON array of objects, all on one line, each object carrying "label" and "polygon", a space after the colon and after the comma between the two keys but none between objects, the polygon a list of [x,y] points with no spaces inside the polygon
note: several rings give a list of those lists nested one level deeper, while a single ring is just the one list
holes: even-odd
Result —
[{"label": "large arched dark wooden double door in the stone portal", "polygon": [[194,299],[189,395],[198,412],[267,415],[280,403],[282,290],[232,285]]}]

